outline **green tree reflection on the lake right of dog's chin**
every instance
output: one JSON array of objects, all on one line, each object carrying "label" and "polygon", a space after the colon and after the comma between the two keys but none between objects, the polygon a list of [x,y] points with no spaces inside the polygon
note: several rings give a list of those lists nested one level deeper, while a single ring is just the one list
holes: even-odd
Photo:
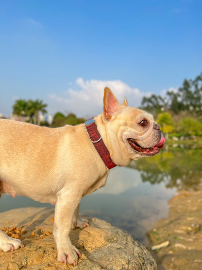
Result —
[{"label": "green tree reflection on the lake right of dog's chin", "polygon": [[197,190],[202,182],[202,150],[178,149],[161,151],[150,159],[132,162],[143,182],[163,182],[167,188]]}]

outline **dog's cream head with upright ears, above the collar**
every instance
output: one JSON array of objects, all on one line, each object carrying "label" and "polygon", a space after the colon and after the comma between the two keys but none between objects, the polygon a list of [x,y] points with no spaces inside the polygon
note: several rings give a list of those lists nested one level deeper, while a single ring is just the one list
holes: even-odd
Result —
[{"label": "dog's cream head with upright ears, above the collar", "polygon": [[117,165],[153,156],[165,143],[151,114],[129,107],[126,99],[120,105],[109,88],[104,90],[102,120],[107,127],[112,159]]}]

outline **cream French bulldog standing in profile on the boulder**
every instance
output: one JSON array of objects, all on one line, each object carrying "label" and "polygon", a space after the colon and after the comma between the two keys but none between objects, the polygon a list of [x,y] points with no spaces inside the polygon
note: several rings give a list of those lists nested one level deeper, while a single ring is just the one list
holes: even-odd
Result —
[{"label": "cream French bulldog standing in profile on the boulder", "polygon": [[[90,139],[84,124],[48,128],[0,119],[0,195],[55,203],[53,234],[58,260],[71,265],[81,256],[69,239],[71,224],[89,226],[88,220],[78,216],[79,202],[104,186],[109,174],[95,144],[102,141],[110,162],[125,166],[157,154],[165,142],[152,115],[128,107],[126,100],[120,105],[109,88],[104,90],[103,112],[93,122],[100,134],[96,141]],[[20,240],[0,231],[1,250],[20,247]]]}]

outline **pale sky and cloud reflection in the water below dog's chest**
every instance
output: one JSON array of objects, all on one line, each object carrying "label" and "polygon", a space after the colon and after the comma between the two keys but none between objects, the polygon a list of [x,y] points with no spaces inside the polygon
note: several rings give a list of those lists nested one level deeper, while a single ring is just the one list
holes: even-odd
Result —
[{"label": "pale sky and cloud reflection in the water below dog's chest", "polygon": [[176,188],[167,189],[163,182],[142,182],[141,173],[134,168],[114,168],[103,188],[82,198],[81,212],[104,219],[147,244],[146,232],[168,215],[168,200]]}]

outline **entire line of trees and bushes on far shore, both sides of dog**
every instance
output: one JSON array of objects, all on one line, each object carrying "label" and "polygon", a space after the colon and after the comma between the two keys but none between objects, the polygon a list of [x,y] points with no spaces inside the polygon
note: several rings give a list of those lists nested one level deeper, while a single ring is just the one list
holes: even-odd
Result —
[{"label": "entire line of trees and bushes on far shore, both sides of dog", "polygon": [[[47,104],[42,100],[16,100],[13,113],[22,121],[40,125],[40,114],[47,113]],[[185,79],[177,90],[168,90],[165,95],[152,94],[143,97],[141,109],[154,115],[154,118],[166,134],[180,136],[202,136],[202,72],[195,79]],[[75,114],[67,115],[57,112],[53,117],[51,127],[78,125],[84,123],[84,118]],[[42,125],[49,124],[43,122]]]}]

